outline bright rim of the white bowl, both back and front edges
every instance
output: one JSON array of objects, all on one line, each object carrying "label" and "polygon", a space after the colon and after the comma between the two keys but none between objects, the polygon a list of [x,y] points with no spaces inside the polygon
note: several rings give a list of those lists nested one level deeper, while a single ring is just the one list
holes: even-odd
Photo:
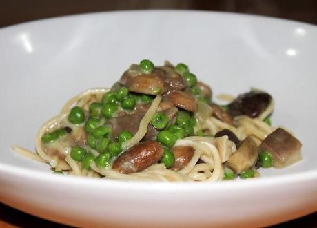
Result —
[{"label": "bright rim of the white bowl, both back and front edges", "polygon": [[[283,23],[292,23],[301,26],[310,27],[310,29],[316,29],[317,26],[311,23],[305,23],[300,21],[294,21],[290,19],[280,19],[276,17],[268,17],[263,15],[252,15],[245,13],[237,13],[237,12],[218,12],[218,11],[207,11],[207,10],[116,10],[116,11],[101,11],[101,12],[88,12],[74,15],[65,15],[59,17],[49,17],[45,19],[37,19],[33,21],[26,21],[23,23],[17,23],[10,26],[5,26],[0,28],[0,36],[3,32],[23,28],[25,26],[34,26],[39,23],[46,23],[47,21],[63,21],[67,20],[77,20],[81,17],[107,17],[108,15],[126,15],[126,14],[148,14],[148,13],[156,13],[156,14],[166,14],[173,13],[179,15],[216,15],[218,17],[239,17],[239,18],[247,18],[247,19],[255,19],[255,20],[265,20],[265,21],[280,21]],[[10,149],[8,150],[10,151]],[[123,180],[110,180],[104,179],[99,180],[95,178],[82,178],[75,176],[63,176],[63,175],[52,175],[52,173],[48,173],[45,171],[34,170],[31,168],[25,167],[17,167],[13,164],[7,164],[0,161],[0,173],[6,175],[14,175],[19,176],[21,178],[32,178],[38,181],[54,181],[60,182],[63,184],[90,184],[92,186],[101,187],[112,185],[115,187],[126,188],[126,187],[136,187],[136,188],[150,188],[150,189],[158,189],[160,187],[164,187],[170,190],[173,189],[218,189],[226,187],[228,189],[234,189],[236,187],[252,187],[258,186],[258,184],[268,184],[268,185],[276,185],[276,184],[285,184],[289,182],[295,181],[304,181],[304,180],[317,180],[317,169],[312,169],[308,171],[300,171],[298,173],[287,173],[283,175],[269,176],[264,178],[251,178],[248,180],[238,180],[238,181],[224,181],[224,182],[149,182],[149,181],[123,181]],[[234,184],[233,184],[234,183]],[[173,190],[174,191],[174,190]]]}]

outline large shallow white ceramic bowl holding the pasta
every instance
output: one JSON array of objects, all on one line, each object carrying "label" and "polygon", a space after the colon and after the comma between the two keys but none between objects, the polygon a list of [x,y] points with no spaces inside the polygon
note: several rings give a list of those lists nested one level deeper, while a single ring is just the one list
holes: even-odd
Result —
[{"label": "large shallow white ceramic bowl holding the pasta", "polygon": [[[259,227],[317,210],[317,28],[215,12],[130,11],[60,17],[0,30],[0,201],[81,227]],[[52,175],[12,153],[70,97],[111,86],[133,62],[190,65],[214,93],[263,88],[273,123],[303,142],[303,161],[262,178],[121,182]]]}]

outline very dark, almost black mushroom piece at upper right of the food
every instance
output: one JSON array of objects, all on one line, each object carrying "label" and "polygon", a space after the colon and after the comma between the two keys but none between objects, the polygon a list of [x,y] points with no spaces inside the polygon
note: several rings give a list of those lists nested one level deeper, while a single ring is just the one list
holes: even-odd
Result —
[{"label": "very dark, almost black mushroom piece at upper right of the food", "polygon": [[260,91],[251,91],[239,95],[232,103],[228,105],[228,111],[233,116],[248,115],[249,117],[258,117],[272,102],[272,97],[268,93]]}]

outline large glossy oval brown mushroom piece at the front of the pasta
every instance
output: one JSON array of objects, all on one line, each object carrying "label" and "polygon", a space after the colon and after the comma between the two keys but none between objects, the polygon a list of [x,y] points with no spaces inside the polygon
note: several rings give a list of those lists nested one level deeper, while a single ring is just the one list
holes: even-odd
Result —
[{"label": "large glossy oval brown mushroom piece at the front of the pasta", "polygon": [[159,162],[164,153],[163,146],[156,141],[140,142],[121,154],[112,166],[120,173],[136,173]]}]

